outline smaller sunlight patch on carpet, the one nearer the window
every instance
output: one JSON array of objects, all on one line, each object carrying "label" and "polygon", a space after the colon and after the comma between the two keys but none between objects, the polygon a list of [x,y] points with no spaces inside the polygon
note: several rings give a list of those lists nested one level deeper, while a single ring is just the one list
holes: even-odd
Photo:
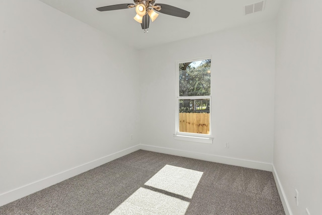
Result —
[{"label": "smaller sunlight patch on carpet, the one nearer the window", "polygon": [[203,172],[166,165],[144,185],[192,198]]}]

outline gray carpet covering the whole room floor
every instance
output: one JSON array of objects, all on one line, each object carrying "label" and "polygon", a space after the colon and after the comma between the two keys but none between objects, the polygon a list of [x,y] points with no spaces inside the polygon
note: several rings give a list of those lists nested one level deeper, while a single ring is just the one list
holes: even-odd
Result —
[{"label": "gray carpet covering the whole room floor", "polygon": [[[165,189],[163,174],[173,174],[160,171],[166,165],[201,172],[192,198]],[[170,215],[285,214],[271,172],[142,150],[4,205],[0,214],[166,214],[167,206]]]}]

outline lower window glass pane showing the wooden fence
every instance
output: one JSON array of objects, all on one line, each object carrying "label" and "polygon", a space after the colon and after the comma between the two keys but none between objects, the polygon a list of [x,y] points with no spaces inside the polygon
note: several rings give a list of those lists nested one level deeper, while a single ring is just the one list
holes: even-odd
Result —
[{"label": "lower window glass pane showing the wooden fence", "polygon": [[210,99],[179,100],[179,131],[209,134]]}]

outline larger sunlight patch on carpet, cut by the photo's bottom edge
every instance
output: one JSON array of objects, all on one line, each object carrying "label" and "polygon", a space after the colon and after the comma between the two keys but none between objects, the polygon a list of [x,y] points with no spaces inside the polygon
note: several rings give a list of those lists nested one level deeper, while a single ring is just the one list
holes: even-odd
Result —
[{"label": "larger sunlight patch on carpet, cut by the photo's bottom edge", "polygon": [[187,201],[140,187],[110,214],[184,215],[188,206]]}]

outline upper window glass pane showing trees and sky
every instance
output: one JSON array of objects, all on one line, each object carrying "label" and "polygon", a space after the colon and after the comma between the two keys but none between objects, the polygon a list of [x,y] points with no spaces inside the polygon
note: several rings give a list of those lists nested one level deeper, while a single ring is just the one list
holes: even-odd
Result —
[{"label": "upper window glass pane showing trees and sky", "polygon": [[179,96],[210,96],[211,59],[179,63]]}]

